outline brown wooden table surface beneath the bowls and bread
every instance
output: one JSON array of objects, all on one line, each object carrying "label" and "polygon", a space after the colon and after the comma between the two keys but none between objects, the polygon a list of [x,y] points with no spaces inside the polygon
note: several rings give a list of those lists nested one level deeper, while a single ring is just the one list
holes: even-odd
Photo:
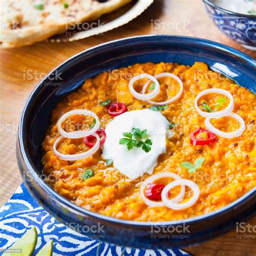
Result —
[{"label": "brown wooden table surface beneath the bowls and bread", "polygon": [[[152,20],[157,25],[153,25]],[[167,24],[173,29],[166,29]],[[42,42],[23,48],[0,50],[0,206],[22,182],[15,155],[17,125],[25,100],[39,80],[67,58],[91,46],[147,34],[206,38],[256,57],[256,52],[242,48],[215,27],[200,0],[155,0],[149,9],[132,22],[103,35],[72,43]],[[247,222],[256,225],[256,218]],[[239,239],[234,230],[204,244],[185,248],[185,251],[193,255],[256,255],[256,238]]]}]

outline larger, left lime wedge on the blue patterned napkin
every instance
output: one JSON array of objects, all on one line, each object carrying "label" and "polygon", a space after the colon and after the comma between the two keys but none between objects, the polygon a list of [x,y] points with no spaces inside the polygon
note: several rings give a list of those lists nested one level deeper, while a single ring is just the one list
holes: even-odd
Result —
[{"label": "larger, left lime wedge on the blue patterned napkin", "polygon": [[[27,231],[22,238],[17,240],[8,250],[9,252],[5,252],[3,256],[30,256],[35,250],[37,243],[37,231],[36,227],[32,227],[29,231]],[[16,252],[16,250],[22,250],[21,252]]]}]

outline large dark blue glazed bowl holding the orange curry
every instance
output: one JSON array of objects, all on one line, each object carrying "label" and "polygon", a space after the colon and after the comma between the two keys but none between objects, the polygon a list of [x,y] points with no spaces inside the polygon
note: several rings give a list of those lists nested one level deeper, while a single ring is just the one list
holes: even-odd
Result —
[{"label": "large dark blue glazed bowl holding the orange curry", "polygon": [[[252,190],[218,211],[199,217],[166,221],[153,228],[149,222],[128,221],[90,212],[60,196],[42,179],[42,141],[48,129],[51,111],[57,102],[76,90],[84,80],[107,70],[134,63],[177,62],[193,65],[205,62],[212,70],[234,79],[256,92],[255,60],[228,46],[198,38],[179,36],[131,37],[98,45],[59,65],[31,93],[22,112],[17,141],[17,159],[24,183],[36,200],[64,224],[104,225],[102,239],[118,245],[143,248],[182,247],[213,238],[234,227],[234,223],[253,214],[256,193]],[[61,74],[63,80],[53,74]],[[50,84],[49,84],[50,83]],[[60,83],[60,86],[50,86]],[[76,224],[76,225],[75,225]],[[189,226],[180,233],[180,225]],[[170,227],[169,232],[166,227]],[[160,229],[158,229],[160,228]],[[174,230],[175,228],[175,230]],[[157,231],[159,231],[159,233]],[[95,235],[79,229],[81,233]],[[166,234],[170,234],[168,237]],[[186,235],[184,237],[184,235]]]}]

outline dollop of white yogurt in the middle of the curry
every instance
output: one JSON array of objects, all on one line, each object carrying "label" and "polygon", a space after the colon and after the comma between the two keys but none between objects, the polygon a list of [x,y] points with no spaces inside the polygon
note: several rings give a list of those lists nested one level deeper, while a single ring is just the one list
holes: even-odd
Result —
[{"label": "dollop of white yogurt in the middle of the curry", "polygon": [[[141,147],[128,150],[120,145],[124,132],[131,132],[133,127],[147,130],[152,140],[151,150],[146,153]],[[149,109],[134,110],[120,114],[105,129],[106,140],[103,145],[103,158],[112,159],[114,167],[131,179],[151,174],[157,165],[158,156],[166,152],[166,131],[169,121],[159,111]],[[145,140],[145,139],[144,139]]]}]

